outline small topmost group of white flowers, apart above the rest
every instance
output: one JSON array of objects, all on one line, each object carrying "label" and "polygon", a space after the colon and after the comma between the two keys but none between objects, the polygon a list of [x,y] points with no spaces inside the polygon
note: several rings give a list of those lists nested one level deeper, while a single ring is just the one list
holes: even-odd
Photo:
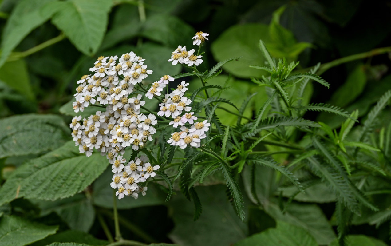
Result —
[{"label": "small topmost group of white flowers, apart above the rest", "polygon": [[[208,33],[203,32],[197,32],[193,39],[193,45],[201,45],[205,40],[208,40],[208,38],[205,38],[208,36]],[[194,55],[194,48],[187,51],[186,46],[179,45],[174,52],[171,54],[171,58],[168,61],[172,61],[172,65],[176,65],[179,63],[181,64],[187,64],[188,66],[198,66],[203,62],[203,59],[200,59],[202,56],[196,56]]]}]

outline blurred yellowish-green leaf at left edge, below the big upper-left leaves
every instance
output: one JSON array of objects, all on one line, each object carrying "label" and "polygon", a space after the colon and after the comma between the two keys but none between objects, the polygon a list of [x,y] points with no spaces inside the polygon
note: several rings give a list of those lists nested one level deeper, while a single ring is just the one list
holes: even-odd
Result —
[{"label": "blurred yellowish-green leaf at left edge, below the big upper-left leaves", "polygon": [[5,63],[0,68],[0,80],[21,95],[25,95],[27,99],[34,99],[34,93],[32,92],[30,78],[24,60],[20,59]]}]

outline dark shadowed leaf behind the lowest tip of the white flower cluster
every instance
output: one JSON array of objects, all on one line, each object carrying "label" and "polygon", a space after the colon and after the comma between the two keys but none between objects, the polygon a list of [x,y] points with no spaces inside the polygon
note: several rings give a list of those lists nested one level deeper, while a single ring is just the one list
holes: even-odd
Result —
[{"label": "dark shadowed leaf behind the lowest tip of the white flower cluster", "polygon": [[[156,175],[159,177],[159,175]],[[92,199],[94,205],[103,208],[113,208],[113,188],[110,183],[113,178],[113,172],[111,168],[106,169],[103,174],[93,183]],[[167,194],[161,192],[152,184],[148,185],[147,195],[140,196],[138,199],[133,197],[125,197],[124,199],[117,200],[118,209],[138,208],[143,206],[161,205],[165,202]]]}]

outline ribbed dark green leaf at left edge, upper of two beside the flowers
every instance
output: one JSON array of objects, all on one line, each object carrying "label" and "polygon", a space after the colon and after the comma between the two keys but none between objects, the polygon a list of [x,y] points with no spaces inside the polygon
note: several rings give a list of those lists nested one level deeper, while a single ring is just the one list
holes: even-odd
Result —
[{"label": "ribbed dark green leaf at left edge, upper of two beside the flowers", "polygon": [[1,119],[0,129],[0,158],[50,151],[70,138],[58,115],[15,115]]}]

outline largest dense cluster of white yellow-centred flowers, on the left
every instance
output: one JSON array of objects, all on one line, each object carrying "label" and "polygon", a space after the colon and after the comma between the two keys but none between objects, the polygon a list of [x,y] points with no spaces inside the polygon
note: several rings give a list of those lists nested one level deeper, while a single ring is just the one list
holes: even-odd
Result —
[{"label": "largest dense cluster of white yellow-centred flowers, on the left", "polygon": [[[152,74],[152,70],[147,70],[147,65],[143,64],[145,59],[134,52],[122,55],[118,63],[117,59],[117,56],[99,57],[90,68],[95,74],[84,75],[77,81],[79,86],[74,95],[76,102],[73,108],[76,113],[90,105],[97,106],[97,102],[106,111],[96,111],[95,115],[84,118],[83,122],[80,122],[81,116],[76,116],[70,127],[80,153],[91,156],[95,148],[102,155],[107,154],[114,172],[111,187],[118,189],[118,198],[121,199],[124,194],[137,198],[138,192],[145,194],[147,189],[139,187],[137,183],[155,176],[153,171],[159,165],[151,167],[142,158],[136,158],[128,163],[129,168],[124,171],[126,159],[122,158],[122,154],[130,145],[134,150],[142,148],[145,142],[152,141],[152,135],[156,133],[153,127],[157,123],[156,116],[140,113],[141,106],[145,104],[141,94],[132,97],[134,85]],[[133,163],[137,163],[135,170]]]}]

